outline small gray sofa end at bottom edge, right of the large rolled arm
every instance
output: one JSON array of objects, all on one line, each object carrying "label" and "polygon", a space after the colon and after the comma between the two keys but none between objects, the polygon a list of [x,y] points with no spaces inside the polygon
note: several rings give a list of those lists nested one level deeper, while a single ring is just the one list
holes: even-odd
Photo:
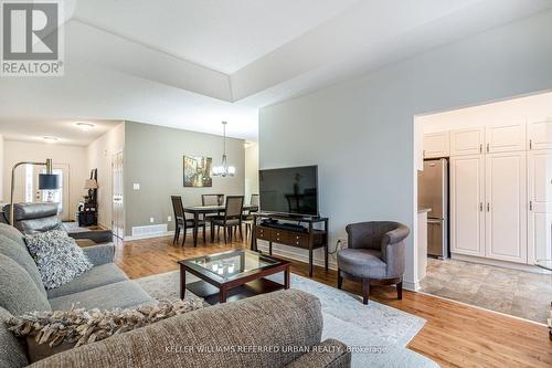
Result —
[{"label": "small gray sofa end at bottom edge, right of the large rolled arm", "polygon": [[311,351],[301,355],[286,368],[349,368],[351,351],[343,343],[329,338],[315,346]]}]

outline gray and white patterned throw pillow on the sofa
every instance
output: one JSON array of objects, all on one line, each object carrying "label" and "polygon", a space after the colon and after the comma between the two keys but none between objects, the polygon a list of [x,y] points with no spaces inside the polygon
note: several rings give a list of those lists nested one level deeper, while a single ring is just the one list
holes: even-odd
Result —
[{"label": "gray and white patterned throw pillow on the sofa", "polygon": [[60,287],[94,266],[65,231],[25,235],[25,243],[46,290]]}]

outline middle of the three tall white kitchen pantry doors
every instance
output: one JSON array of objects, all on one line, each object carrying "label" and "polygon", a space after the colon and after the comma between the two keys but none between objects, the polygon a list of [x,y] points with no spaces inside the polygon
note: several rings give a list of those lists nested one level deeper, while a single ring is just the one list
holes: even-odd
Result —
[{"label": "middle of the three tall white kitchen pantry doors", "polygon": [[486,155],[485,256],[527,263],[526,153]]}]

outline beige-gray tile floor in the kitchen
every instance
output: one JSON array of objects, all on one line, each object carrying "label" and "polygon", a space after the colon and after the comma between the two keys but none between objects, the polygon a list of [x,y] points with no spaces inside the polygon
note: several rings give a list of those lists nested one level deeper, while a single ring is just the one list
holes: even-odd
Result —
[{"label": "beige-gray tile floor in the kitchen", "polygon": [[552,302],[552,274],[535,274],[456,260],[428,259],[422,291],[546,323]]}]

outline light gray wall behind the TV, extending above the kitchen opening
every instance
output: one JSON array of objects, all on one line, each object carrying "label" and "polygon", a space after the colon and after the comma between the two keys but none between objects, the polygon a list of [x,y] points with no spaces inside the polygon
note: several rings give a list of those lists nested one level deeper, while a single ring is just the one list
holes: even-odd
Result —
[{"label": "light gray wall behind the TV, extending above the kitchen opening", "polygon": [[552,88],[551,65],[546,12],[265,107],[259,167],[319,166],[320,212],[330,218],[331,243],[350,222],[407,224],[414,233],[405,286],[413,288],[414,116]]}]

